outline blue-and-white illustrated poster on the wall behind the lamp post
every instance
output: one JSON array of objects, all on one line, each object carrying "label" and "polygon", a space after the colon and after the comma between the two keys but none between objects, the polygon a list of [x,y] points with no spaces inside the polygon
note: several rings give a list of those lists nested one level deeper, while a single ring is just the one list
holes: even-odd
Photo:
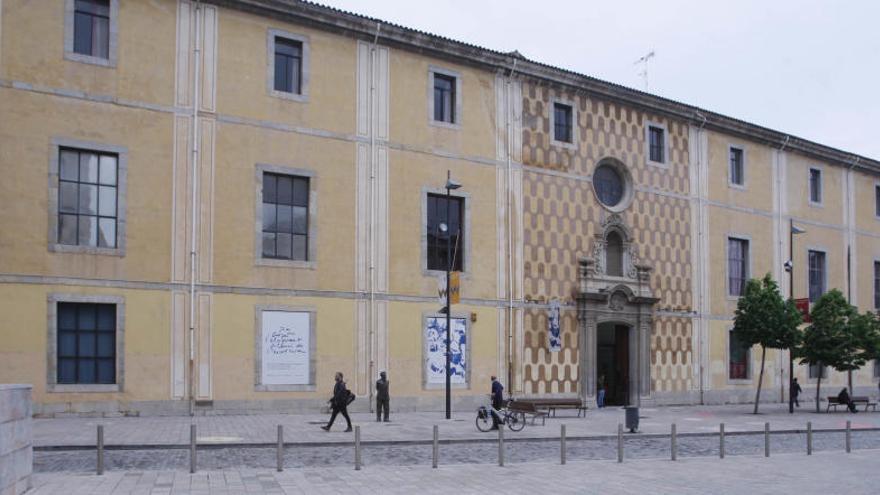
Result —
[{"label": "blue-and-white illustrated poster on the wall behind the lamp post", "polygon": [[[450,381],[467,383],[467,321],[452,318]],[[429,385],[446,383],[446,317],[425,319],[425,375]]]}]

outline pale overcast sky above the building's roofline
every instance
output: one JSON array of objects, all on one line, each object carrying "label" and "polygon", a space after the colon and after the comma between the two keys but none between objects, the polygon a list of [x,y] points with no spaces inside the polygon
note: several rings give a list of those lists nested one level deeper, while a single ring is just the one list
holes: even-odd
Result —
[{"label": "pale overcast sky above the building's roofline", "polygon": [[319,0],[880,159],[880,1]]}]

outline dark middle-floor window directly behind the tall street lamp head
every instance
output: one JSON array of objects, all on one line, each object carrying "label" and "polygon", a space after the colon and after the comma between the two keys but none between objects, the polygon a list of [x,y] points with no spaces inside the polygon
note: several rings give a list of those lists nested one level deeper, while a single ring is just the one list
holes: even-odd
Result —
[{"label": "dark middle-floor window directly behind the tall street lamp head", "polygon": [[[447,206],[449,210],[447,220]],[[441,227],[444,225],[444,229]],[[462,271],[464,266],[464,198],[428,194],[428,270]],[[447,258],[448,256],[448,258]],[[448,260],[448,261],[447,261]]]}]

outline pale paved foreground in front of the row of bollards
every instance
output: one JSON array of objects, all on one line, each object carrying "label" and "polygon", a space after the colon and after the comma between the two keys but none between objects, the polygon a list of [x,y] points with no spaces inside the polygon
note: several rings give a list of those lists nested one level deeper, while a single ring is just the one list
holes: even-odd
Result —
[{"label": "pale paved foreground in front of the row of bollards", "polygon": [[783,454],[684,458],[441,466],[374,466],[307,468],[275,472],[227,469],[189,474],[185,471],[118,471],[103,476],[43,473],[34,475],[33,494],[181,493],[676,493],[778,494],[875,493],[880,487],[880,451],[852,454],[820,452],[812,456]]}]

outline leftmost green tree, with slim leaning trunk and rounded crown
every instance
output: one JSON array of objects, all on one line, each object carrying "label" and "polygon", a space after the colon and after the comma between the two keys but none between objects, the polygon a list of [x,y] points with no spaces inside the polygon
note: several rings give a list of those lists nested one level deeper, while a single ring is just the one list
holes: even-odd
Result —
[{"label": "leftmost green tree, with slim leaning trunk and rounded crown", "polygon": [[761,346],[761,372],[758,374],[758,390],[755,393],[755,410],[761,401],[761,385],[764,381],[764,362],[767,349],[794,349],[800,341],[798,325],[801,313],[794,301],[786,301],[779,293],[779,286],[770,274],[761,280],[746,282],[745,292],[736,305],[733,331],[743,344]]}]

